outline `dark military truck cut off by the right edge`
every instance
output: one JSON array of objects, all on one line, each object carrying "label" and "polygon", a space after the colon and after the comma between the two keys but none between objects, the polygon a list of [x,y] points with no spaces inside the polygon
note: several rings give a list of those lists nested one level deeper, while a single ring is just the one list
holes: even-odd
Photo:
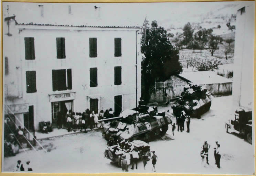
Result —
[{"label": "dark military truck cut off by the right edge", "polygon": [[244,137],[252,144],[252,111],[246,108],[239,108],[235,111],[234,119],[225,123],[226,132],[235,132]]}]

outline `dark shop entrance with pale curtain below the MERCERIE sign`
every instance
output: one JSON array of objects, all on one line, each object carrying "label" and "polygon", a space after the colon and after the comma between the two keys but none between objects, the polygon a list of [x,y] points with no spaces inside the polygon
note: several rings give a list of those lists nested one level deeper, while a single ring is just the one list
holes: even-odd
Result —
[{"label": "dark shop entrance with pale curtain below the MERCERIE sign", "polygon": [[73,100],[52,102],[52,126],[64,125],[67,111],[73,111]]}]

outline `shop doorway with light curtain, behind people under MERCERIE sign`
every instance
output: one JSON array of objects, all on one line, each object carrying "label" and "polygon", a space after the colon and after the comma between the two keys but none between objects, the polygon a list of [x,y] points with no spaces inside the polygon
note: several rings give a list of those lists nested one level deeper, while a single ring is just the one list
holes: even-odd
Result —
[{"label": "shop doorway with light curtain, behind people under MERCERIE sign", "polygon": [[57,115],[61,113],[63,118],[67,114],[67,111],[73,112],[73,100],[68,101],[56,101],[52,102],[52,127],[57,128]]}]

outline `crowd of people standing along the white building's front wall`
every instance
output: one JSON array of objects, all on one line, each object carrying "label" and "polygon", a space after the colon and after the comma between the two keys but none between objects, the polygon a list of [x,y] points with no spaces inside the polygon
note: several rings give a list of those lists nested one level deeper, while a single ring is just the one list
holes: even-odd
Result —
[{"label": "crowd of people standing along the white building's front wall", "polygon": [[103,128],[105,122],[99,122],[99,120],[112,117],[114,117],[112,108],[107,109],[105,112],[100,110],[99,114],[98,112],[89,109],[86,109],[83,113],[69,110],[66,114],[61,112],[57,113],[57,125],[58,129],[66,128],[68,132],[76,131],[78,129],[82,131],[82,129],[84,129],[85,133],[87,133],[86,129],[88,127],[90,129]]}]

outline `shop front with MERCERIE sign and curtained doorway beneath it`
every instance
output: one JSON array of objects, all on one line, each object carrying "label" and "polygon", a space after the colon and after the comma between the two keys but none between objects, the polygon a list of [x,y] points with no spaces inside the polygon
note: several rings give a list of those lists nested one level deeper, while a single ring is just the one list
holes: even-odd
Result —
[{"label": "shop front with MERCERIE sign and curtained doorway beneath it", "polygon": [[75,92],[65,92],[51,94],[50,102],[52,106],[52,126],[64,125],[67,111],[74,109]]}]

